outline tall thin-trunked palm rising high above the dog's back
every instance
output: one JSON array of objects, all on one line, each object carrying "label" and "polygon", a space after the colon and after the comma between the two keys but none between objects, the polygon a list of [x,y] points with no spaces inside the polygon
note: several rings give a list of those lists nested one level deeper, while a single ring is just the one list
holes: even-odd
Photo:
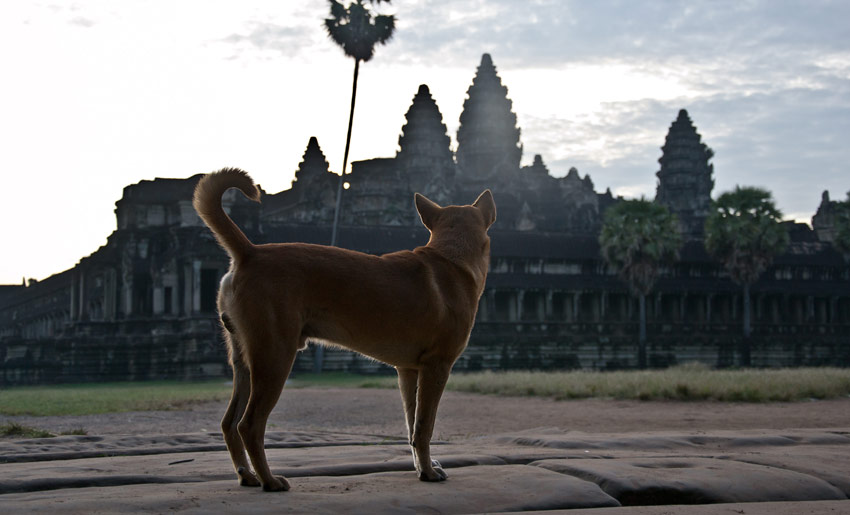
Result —
[{"label": "tall thin-trunked palm rising high above the dog's back", "polygon": [[[390,3],[390,0],[369,0],[369,3]],[[342,159],[342,170],[339,174],[339,185],[336,190],[336,207],[334,208],[334,223],[331,230],[331,245],[336,245],[339,227],[339,211],[342,206],[342,190],[345,183],[345,169],[348,167],[348,151],[351,148],[351,128],[354,124],[354,101],[357,99],[357,77],[360,74],[360,61],[367,62],[375,55],[375,45],[386,44],[395,31],[395,16],[379,14],[373,16],[363,0],[355,0],[345,7],[336,0],[329,0],[331,17],[325,19],[325,30],[328,36],[340,47],[345,55],[354,59],[354,81],[351,84],[351,110],[348,113],[348,133],[345,137],[345,153]],[[316,347],[313,371],[321,372],[324,361],[324,348]]]}]

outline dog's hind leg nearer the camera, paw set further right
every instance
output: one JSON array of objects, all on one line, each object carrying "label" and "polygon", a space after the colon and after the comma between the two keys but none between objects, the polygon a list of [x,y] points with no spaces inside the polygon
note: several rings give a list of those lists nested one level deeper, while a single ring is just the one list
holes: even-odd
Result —
[{"label": "dog's hind leg nearer the camera, paw set further right", "polygon": [[280,398],[283,385],[295,362],[297,348],[297,336],[293,336],[284,339],[257,338],[249,342],[245,349],[251,371],[251,395],[242,420],[236,427],[263,490],[268,492],[289,490],[286,478],[272,475],[263,443],[266,422]]}]

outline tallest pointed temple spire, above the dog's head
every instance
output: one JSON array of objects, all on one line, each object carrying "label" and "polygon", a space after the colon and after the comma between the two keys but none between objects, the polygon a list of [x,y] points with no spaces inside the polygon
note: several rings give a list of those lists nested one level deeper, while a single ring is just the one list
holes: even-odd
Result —
[{"label": "tallest pointed temple spire, above the dog's head", "polygon": [[464,180],[478,180],[519,169],[522,145],[508,88],[496,73],[490,54],[467,90],[457,130],[457,163]]}]

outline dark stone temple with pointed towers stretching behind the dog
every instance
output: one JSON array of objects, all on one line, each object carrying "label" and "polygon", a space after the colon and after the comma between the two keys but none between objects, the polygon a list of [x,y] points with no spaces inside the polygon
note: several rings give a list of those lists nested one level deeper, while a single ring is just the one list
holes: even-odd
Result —
[{"label": "dark stone temple with pointed towers stretching behind the dog", "polygon": [[[512,108],[485,54],[453,151],[437,103],[420,86],[396,155],[353,163],[339,245],[375,254],[423,245],[414,192],[460,204],[490,188],[498,206],[490,276],[456,368],[635,367],[636,301],[597,243],[602,213],[620,199],[597,192],[575,168],[553,176],[539,155],[521,166]],[[740,362],[740,289],[702,244],[712,156],[681,110],[661,148],[655,201],[677,214],[686,243],[648,299],[650,366]],[[192,209],[199,177],[127,186],[106,245],[42,281],[0,286],[0,384],[227,373],[215,295],[228,261]],[[256,243],[328,244],[338,178],[310,138],[290,189],[263,192],[261,204],[231,190],[224,204]],[[787,222],[790,247],[752,287],[754,366],[850,365],[850,270],[831,244],[834,204],[825,192],[813,228]],[[296,373],[311,369],[313,356],[312,347],[302,352]],[[339,350],[323,366],[386,370]]]}]

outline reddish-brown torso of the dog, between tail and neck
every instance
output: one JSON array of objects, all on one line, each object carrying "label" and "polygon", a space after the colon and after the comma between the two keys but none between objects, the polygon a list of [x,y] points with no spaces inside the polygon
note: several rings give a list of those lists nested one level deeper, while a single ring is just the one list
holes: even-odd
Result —
[{"label": "reddish-brown torso of the dog, between tail and neck", "polygon": [[[273,299],[272,312],[298,314],[302,342],[340,345],[393,366],[413,366],[422,348],[468,336],[480,296],[474,278],[428,247],[373,256],[301,243],[260,245],[250,266],[236,265],[231,274],[222,311],[262,309],[254,302]],[[238,290],[256,295],[238,299]],[[459,355],[463,347],[445,350]]]}]

